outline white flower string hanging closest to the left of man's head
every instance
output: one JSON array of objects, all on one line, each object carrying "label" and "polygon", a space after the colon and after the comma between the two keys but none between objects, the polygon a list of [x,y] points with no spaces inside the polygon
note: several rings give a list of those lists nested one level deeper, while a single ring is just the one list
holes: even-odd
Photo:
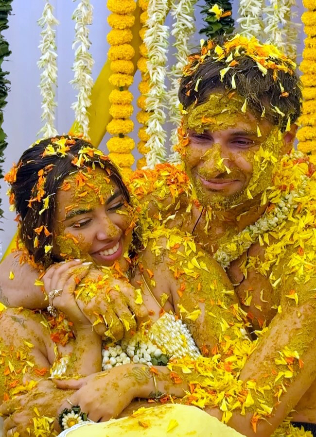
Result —
[{"label": "white flower string hanging closest to the left of man's head", "polygon": [[[174,24],[172,25],[173,30],[171,31],[172,36],[175,37],[176,41],[173,46],[176,48],[176,64],[172,67],[168,74],[171,81],[171,89],[168,93],[169,100],[169,121],[171,121],[175,128],[171,132],[170,144],[172,149],[178,143],[177,130],[180,126],[181,114],[179,111],[179,78],[182,75],[183,67],[187,63],[187,58],[190,54],[188,49],[188,41],[194,34],[194,5],[196,0],[172,0],[171,1],[171,15],[174,17]],[[179,164],[181,162],[180,155],[177,151],[174,151],[170,156],[168,161],[173,164]]]}]

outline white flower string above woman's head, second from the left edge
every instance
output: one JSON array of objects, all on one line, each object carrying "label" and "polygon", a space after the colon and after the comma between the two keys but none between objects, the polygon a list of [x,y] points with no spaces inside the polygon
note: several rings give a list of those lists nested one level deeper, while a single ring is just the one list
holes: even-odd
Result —
[{"label": "white flower string above woman's head, second from the left edge", "polygon": [[[76,1],[76,0],[73,0]],[[91,104],[90,95],[93,86],[91,76],[94,61],[89,52],[88,25],[92,24],[92,6],[89,0],[82,0],[73,12],[72,19],[75,21],[75,38],[72,49],[75,50],[73,63],[74,79],[70,81],[73,88],[78,90],[77,101],[72,103],[71,108],[75,113],[77,123],[76,130],[82,131],[88,138],[89,119],[88,107]]]}]

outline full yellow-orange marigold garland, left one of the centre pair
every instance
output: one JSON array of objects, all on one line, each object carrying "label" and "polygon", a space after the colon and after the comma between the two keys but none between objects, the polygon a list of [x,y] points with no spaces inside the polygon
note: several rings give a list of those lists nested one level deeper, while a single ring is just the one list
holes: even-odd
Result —
[{"label": "full yellow-orange marigold garland, left one of the centre pair", "polygon": [[134,164],[131,152],[135,146],[134,140],[125,135],[134,129],[133,121],[129,120],[133,113],[133,95],[127,88],[134,81],[134,64],[131,59],[135,55],[135,50],[130,44],[133,39],[130,28],[135,22],[133,13],[136,3],[134,0],[108,0],[107,8],[111,12],[107,22],[112,27],[107,35],[107,42],[111,46],[107,56],[112,61],[109,83],[117,89],[109,96],[109,113],[113,119],[106,127],[107,132],[115,136],[107,141],[106,146],[110,152],[109,157],[121,168],[123,177],[128,178],[130,167]]}]

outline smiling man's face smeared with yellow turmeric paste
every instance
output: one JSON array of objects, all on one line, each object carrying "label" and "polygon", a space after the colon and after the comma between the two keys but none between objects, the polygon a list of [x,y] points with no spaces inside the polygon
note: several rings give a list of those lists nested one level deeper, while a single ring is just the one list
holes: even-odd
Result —
[{"label": "smiling man's face smeared with yellow turmeric paste", "polygon": [[228,209],[271,184],[282,135],[266,119],[244,112],[243,104],[238,96],[212,94],[184,118],[189,142],[183,160],[204,205]]}]

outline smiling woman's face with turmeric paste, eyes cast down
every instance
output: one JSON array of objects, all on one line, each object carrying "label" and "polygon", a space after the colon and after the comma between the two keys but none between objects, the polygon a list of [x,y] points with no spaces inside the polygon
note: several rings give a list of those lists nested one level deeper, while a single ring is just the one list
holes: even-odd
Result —
[{"label": "smiling woman's face with turmeric paste, eyes cast down", "polygon": [[53,251],[102,266],[128,268],[132,207],[100,168],[68,176],[56,197]]}]

